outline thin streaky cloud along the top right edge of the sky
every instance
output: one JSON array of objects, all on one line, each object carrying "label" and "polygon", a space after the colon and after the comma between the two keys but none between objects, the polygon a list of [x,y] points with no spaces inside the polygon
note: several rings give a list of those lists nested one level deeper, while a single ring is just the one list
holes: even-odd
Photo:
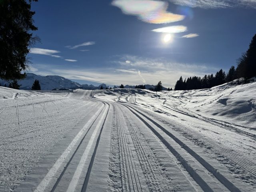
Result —
[{"label": "thin streaky cloud along the top right edge of the sky", "polygon": [[169,0],[182,6],[200,8],[229,8],[229,7],[252,7],[256,8],[255,0]]}]

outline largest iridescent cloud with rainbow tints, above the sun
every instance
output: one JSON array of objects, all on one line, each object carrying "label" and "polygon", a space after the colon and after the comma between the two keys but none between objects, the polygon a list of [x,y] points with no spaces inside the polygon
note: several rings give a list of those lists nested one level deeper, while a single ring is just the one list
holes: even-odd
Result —
[{"label": "largest iridescent cloud with rainbow tints, above the sun", "polygon": [[164,24],[181,21],[184,15],[167,12],[168,3],[158,0],[114,0],[124,14],[137,16],[138,19],[152,24]]}]

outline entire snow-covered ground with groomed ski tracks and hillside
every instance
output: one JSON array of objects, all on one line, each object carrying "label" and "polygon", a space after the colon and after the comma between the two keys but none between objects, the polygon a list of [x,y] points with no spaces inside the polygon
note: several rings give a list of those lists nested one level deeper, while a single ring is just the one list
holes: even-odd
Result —
[{"label": "entire snow-covered ground with groomed ski tracks and hillside", "polygon": [[0,87],[0,191],[256,190],[256,82],[204,90]]}]

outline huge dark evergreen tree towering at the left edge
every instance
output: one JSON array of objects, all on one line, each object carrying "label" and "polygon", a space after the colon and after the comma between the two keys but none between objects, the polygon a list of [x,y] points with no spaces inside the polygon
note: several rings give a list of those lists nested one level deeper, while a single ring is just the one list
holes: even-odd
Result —
[{"label": "huge dark evergreen tree towering at the left edge", "polygon": [[31,2],[38,0],[0,0],[0,78],[25,78],[28,68],[29,46],[39,41],[33,37],[37,30],[30,11]]}]

